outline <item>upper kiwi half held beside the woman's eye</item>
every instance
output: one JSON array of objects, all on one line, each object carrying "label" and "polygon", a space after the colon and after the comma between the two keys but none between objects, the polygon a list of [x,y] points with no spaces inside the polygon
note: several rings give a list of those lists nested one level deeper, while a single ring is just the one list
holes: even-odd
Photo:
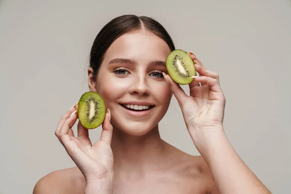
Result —
[{"label": "upper kiwi half held beside the woman's eye", "polygon": [[177,83],[185,85],[196,76],[194,62],[189,54],[181,49],[173,50],[166,59],[166,67],[170,77]]}]

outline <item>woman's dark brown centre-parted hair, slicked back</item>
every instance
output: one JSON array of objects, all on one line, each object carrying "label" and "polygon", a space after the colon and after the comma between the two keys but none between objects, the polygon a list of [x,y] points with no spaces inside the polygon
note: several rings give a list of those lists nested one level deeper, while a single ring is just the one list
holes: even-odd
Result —
[{"label": "woman's dark brown centre-parted hair, slicked back", "polygon": [[93,68],[93,76],[96,77],[103,57],[111,44],[121,35],[127,32],[147,30],[162,38],[169,48],[175,50],[171,36],[156,20],[147,16],[123,15],[118,16],[107,23],[97,34],[90,52],[90,66]]}]

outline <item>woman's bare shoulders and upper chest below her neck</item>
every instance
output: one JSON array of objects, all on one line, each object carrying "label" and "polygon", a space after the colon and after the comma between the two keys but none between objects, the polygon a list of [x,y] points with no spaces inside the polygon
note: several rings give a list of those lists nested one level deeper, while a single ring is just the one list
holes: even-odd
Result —
[{"label": "woman's bare shoulders and upper chest below her neck", "polygon": [[[162,141],[167,154],[155,171],[144,174],[114,168],[114,194],[218,194],[201,156],[188,155]],[[33,194],[83,194],[86,181],[78,167],[58,170],[40,179]]]}]

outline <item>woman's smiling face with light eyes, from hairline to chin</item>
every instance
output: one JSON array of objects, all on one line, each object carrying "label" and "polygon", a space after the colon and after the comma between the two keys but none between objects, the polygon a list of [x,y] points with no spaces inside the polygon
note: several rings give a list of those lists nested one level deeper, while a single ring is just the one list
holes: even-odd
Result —
[{"label": "woman's smiling face with light eyes, from hairline to chin", "polygon": [[167,112],[172,92],[162,72],[167,73],[170,52],[161,38],[146,31],[126,33],[107,50],[95,88],[117,128],[144,135]]}]

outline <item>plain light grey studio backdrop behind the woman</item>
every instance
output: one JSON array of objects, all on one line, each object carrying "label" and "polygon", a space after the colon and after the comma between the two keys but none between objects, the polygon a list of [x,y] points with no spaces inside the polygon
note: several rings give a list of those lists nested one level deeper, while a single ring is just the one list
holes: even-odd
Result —
[{"label": "plain light grey studio backdrop behind the woman", "polygon": [[[290,193],[290,0],[0,1],[0,193],[31,194],[43,176],[75,165],[54,131],[89,91],[97,33],[124,14],[157,19],[177,49],[219,73],[231,145],[272,193]],[[90,130],[93,143],[100,131]],[[199,155],[175,97],[160,131]]]}]

